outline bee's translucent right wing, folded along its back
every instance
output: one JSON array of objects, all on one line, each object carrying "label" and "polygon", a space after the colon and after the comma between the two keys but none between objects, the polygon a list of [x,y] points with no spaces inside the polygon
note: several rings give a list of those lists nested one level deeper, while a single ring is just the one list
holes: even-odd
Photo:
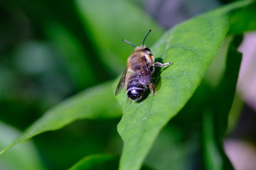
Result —
[{"label": "bee's translucent right wing, folded along its back", "polygon": [[145,86],[151,83],[151,72],[149,67],[146,64],[146,57],[142,57],[142,67],[141,67],[141,75],[142,79],[140,79],[141,83]]}]

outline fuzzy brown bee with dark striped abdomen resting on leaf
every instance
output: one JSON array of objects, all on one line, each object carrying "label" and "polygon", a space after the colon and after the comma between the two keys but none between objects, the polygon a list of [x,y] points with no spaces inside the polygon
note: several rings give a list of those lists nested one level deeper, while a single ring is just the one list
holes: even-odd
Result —
[{"label": "fuzzy brown bee with dark striped abdomen resting on leaf", "polygon": [[151,83],[151,79],[155,67],[166,67],[172,64],[155,62],[154,57],[151,54],[151,50],[144,45],[146,37],[150,32],[151,30],[149,30],[144,37],[141,46],[136,46],[132,42],[123,39],[124,42],[134,46],[135,49],[127,60],[127,67],[124,69],[115,91],[116,96],[119,94],[119,91],[121,91],[123,86],[125,86],[128,98],[131,98],[134,101],[141,101],[142,98],[144,98],[144,94],[147,89],[153,91],[154,95],[155,87]]}]

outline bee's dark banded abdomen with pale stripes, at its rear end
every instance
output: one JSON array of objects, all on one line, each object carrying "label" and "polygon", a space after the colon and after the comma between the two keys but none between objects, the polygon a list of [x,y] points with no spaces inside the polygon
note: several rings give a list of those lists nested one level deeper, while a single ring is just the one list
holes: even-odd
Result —
[{"label": "bee's dark banded abdomen with pale stripes, at its rear end", "polygon": [[134,101],[142,99],[144,91],[147,89],[147,86],[141,84],[139,79],[139,76],[130,77],[127,83],[127,96]]}]

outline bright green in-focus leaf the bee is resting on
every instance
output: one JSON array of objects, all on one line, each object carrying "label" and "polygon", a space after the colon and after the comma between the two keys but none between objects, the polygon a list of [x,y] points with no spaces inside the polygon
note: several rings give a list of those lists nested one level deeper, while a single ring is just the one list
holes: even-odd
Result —
[{"label": "bright green in-focus leaf the bee is resting on", "polygon": [[[161,128],[183,108],[206,73],[230,26],[230,11],[250,4],[240,1],[192,18],[167,32],[151,49],[174,65],[161,72],[161,87],[144,101],[118,96],[123,117],[118,132],[124,140],[119,169],[139,169]],[[159,86],[159,85],[158,85]]]}]

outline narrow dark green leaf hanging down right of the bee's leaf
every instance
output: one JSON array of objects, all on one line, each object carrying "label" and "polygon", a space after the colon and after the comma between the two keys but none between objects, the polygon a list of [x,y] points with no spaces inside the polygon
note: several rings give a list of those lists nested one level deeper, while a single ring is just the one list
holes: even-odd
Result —
[{"label": "narrow dark green leaf hanging down right of the bee's leaf", "polygon": [[208,100],[203,113],[205,169],[233,169],[223,149],[223,137],[228,127],[228,113],[235,96],[242,60],[242,54],[237,50],[241,41],[241,36],[237,36],[230,43],[223,79],[213,91],[213,101]]}]

